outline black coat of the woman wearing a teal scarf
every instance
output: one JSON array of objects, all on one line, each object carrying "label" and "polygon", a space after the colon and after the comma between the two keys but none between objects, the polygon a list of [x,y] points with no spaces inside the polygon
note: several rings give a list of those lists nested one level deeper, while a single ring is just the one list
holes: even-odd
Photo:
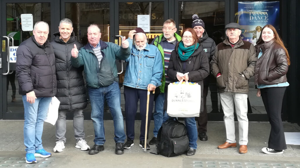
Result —
[{"label": "black coat of the woman wearing a teal scarf", "polygon": [[[201,47],[196,49],[194,53],[186,60],[187,64],[185,67],[185,71],[182,69],[181,60],[178,54],[178,45],[176,45],[175,50],[172,51],[170,62],[167,70],[167,76],[170,77],[171,83],[177,82],[176,74],[177,72],[180,73],[187,73],[189,77],[189,82],[195,82],[201,85],[201,107],[200,113],[203,112],[203,80],[209,74],[209,63],[208,58],[205,52],[202,50]],[[166,96],[167,97],[167,96]],[[165,101],[167,102],[167,101]],[[167,108],[165,108],[167,109]]]}]

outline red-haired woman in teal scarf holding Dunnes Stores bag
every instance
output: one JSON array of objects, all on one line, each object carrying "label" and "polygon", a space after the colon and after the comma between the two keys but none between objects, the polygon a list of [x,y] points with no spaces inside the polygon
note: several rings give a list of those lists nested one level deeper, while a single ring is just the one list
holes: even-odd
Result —
[{"label": "red-haired woman in teal scarf holding Dunnes Stores bag", "polygon": [[[177,72],[182,74],[188,72],[188,74],[181,77]],[[201,85],[201,100],[199,100],[201,101],[200,112],[203,112],[203,79],[207,77],[208,74],[208,57],[202,50],[202,46],[199,46],[196,32],[192,28],[185,28],[182,32],[182,41],[176,45],[175,50],[171,53],[167,76],[170,77],[171,82],[177,82],[183,79]],[[183,119],[190,141],[190,148],[187,151],[187,155],[192,156],[195,155],[197,149],[198,132],[196,121],[195,117],[185,117]]]}]

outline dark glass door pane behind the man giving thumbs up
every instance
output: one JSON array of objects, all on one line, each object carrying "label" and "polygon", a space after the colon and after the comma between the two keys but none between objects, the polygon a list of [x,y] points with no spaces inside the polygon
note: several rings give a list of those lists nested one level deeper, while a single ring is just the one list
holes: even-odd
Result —
[{"label": "dark glass door pane behind the man giving thumbs up", "polygon": [[87,44],[87,28],[97,24],[101,29],[101,40],[109,42],[110,3],[65,3],[65,17],[73,22],[73,31],[77,40]]}]

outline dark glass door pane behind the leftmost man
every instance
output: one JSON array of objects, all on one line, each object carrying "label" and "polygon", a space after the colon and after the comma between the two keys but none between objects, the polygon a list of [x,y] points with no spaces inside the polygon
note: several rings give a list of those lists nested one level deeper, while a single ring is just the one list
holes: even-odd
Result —
[{"label": "dark glass door pane behind the leftmost man", "polygon": [[[19,46],[21,42],[32,36],[32,31],[22,31],[21,14],[32,14],[33,23],[44,21],[51,28],[50,3],[7,3],[6,35],[13,37],[14,46]],[[50,33],[48,39],[50,39]],[[11,41],[9,45],[12,46]],[[24,112],[22,96],[18,94],[19,84],[15,70],[15,63],[10,62],[10,73],[6,76],[7,112]]]}]

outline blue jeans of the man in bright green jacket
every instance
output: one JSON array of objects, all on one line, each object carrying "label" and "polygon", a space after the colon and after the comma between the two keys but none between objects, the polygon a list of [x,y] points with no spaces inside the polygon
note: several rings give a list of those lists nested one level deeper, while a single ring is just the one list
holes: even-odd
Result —
[{"label": "blue jeans of the man in bright green jacket", "polygon": [[153,129],[153,136],[157,137],[158,130],[161,128],[163,122],[167,121],[169,116],[167,111],[164,111],[164,102],[165,102],[165,93],[160,93],[156,97],[155,100],[155,107],[154,107],[154,129]]}]

